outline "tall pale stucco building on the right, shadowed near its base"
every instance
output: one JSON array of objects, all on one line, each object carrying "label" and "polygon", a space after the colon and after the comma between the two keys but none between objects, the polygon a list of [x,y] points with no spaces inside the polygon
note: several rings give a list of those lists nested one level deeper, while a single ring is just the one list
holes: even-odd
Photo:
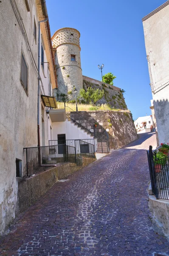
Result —
[{"label": "tall pale stucco building on the right, shadowed near its base", "polygon": [[169,142],[169,1],[142,19],[158,139]]}]

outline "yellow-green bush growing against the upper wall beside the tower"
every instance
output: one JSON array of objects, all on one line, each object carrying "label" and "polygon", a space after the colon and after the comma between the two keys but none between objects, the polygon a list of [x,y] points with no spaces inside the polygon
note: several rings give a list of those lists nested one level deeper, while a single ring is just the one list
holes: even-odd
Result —
[{"label": "yellow-green bush growing against the upper wall beside the tower", "polygon": [[85,99],[87,104],[95,104],[104,95],[104,90],[94,89],[88,87],[87,91],[85,89],[80,90],[80,96]]}]

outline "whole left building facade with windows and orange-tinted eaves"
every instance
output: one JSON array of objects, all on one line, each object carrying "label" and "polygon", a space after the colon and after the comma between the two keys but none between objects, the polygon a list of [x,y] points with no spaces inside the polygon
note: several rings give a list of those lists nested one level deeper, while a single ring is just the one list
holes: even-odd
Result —
[{"label": "whole left building facade with windows and orange-tinted eaves", "polygon": [[4,110],[0,118],[0,234],[18,212],[18,183],[25,175],[24,148],[38,145],[38,113],[40,145],[51,138],[51,120],[40,94],[51,95],[57,84],[47,22],[41,23],[40,33],[38,30],[38,22],[46,19],[42,2],[0,3],[0,108]]}]

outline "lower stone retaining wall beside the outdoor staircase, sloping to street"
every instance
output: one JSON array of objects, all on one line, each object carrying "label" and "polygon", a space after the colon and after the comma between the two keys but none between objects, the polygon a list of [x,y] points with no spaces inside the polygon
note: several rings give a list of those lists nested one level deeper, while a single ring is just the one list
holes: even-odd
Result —
[{"label": "lower stone retaining wall beside the outdoor staircase, sloping to street", "polygon": [[[101,138],[103,135],[107,137],[110,148],[121,148],[124,145],[138,138],[132,115],[130,111],[79,111],[81,116],[89,120],[91,128],[92,124],[98,122],[95,128],[96,137]],[[71,117],[76,112],[71,113]],[[83,123],[83,126],[89,123]]]}]

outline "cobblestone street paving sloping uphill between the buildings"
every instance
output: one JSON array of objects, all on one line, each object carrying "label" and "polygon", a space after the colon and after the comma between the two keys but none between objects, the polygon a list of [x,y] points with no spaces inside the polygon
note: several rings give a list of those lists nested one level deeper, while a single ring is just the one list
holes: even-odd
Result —
[{"label": "cobblestone street paving sloping uphill between the buildings", "polygon": [[7,256],[152,256],[169,253],[169,243],[152,229],[146,193],[143,134],[57,182],[4,236]]}]

